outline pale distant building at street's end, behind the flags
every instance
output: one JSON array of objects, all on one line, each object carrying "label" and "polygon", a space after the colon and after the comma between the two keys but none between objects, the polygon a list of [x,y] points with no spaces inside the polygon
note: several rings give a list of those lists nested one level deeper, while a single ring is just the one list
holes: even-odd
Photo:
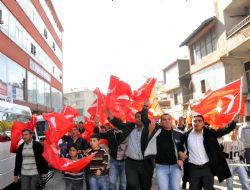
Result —
[{"label": "pale distant building at street's end, behind the flags", "polygon": [[87,89],[64,93],[65,105],[72,106],[79,111],[76,121],[83,121],[84,116],[89,117],[87,110],[95,99],[96,95],[93,91]]}]

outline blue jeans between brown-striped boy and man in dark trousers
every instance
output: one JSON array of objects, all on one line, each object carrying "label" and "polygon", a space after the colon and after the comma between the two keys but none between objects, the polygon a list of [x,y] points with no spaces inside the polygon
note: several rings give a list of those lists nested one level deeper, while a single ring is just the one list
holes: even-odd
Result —
[{"label": "blue jeans between brown-striped boy and man in dark trousers", "polygon": [[119,190],[126,190],[125,161],[110,159],[109,168],[109,190],[116,190],[116,184],[119,178]]}]

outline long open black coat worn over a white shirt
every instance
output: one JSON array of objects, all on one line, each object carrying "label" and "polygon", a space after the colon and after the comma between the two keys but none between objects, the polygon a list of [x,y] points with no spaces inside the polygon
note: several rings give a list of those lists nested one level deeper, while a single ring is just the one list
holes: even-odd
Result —
[{"label": "long open black coat worn over a white shirt", "polygon": [[[236,123],[234,121],[231,121],[226,127],[220,128],[218,130],[215,130],[209,126],[203,127],[204,148],[209,158],[209,163],[212,172],[215,176],[218,177],[219,182],[222,182],[224,179],[231,177],[231,172],[229,170],[225,156],[221,150],[217,138],[230,133],[233,129],[235,129],[235,127]],[[190,129],[184,134],[184,142],[187,147],[187,152],[187,140],[191,131],[192,129]]]}]

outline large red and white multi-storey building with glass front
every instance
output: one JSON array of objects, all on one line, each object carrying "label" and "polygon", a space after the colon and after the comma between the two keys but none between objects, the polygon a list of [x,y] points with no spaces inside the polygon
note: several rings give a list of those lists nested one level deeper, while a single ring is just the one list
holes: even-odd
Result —
[{"label": "large red and white multi-storey building with glass front", "polygon": [[63,27],[51,0],[0,1],[0,99],[33,112],[63,104]]}]

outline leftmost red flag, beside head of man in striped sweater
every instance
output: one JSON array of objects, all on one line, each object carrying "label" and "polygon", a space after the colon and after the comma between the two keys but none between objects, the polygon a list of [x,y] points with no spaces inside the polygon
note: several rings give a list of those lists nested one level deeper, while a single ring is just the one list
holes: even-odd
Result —
[{"label": "leftmost red flag, beside head of man in striped sweater", "polygon": [[22,131],[24,129],[31,129],[34,131],[35,125],[37,121],[37,116],[32,115],[30,121],[27,123],[23,123],[20,121],[14,121],[11,127],[11,144],[10,144],[10,152],[15,153],[18,149],[18,143],[22,139]]}]

